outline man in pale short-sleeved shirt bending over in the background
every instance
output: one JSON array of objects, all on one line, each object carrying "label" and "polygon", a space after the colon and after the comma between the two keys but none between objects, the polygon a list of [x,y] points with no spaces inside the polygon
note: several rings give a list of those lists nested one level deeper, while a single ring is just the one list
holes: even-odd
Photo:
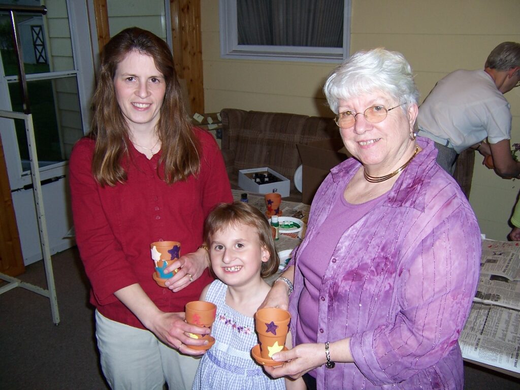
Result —
[{"label": "man in pale short-sleeved shirt bending over in the background", "polygon": [[[456,70],[441,79],[419,108],[418,134],[435,141],[437,163],[453,175],[462,151],[490,156],[501,177],[519,177],[511,155],[511,111],[503,94],[520,85],[520,44],[502,42],[484,70]],[[486,142],[487,140],[487,142]]]}]

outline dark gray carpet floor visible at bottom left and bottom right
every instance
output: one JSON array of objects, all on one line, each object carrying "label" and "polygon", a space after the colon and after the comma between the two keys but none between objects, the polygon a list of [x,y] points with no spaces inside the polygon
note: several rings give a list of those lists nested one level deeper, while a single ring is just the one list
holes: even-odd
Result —
[{"label": "dark gray carpet floor visible at bottom left and bottom right", "polygon": [[[22,288],[0,295],[0,389],[108,389],[99,368],[94,310],[88,304],[88,280],[77,249],[54,255],[53,268],[58,326],[46,297]],[[46,287],[43,262],[28,266],[19,278]],[[469,363],[464,372],[467,390],[520,388],[518,379]]]}]

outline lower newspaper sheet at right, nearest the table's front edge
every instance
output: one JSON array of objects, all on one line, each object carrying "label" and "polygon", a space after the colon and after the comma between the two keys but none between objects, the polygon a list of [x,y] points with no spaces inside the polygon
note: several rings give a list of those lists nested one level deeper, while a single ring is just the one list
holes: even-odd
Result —
[{"label": "lower newspaper sheet at right, nearest the table's front edge", "polygon": [[474,302],[459,344],[465,359],[520,373],[520,311]]}]

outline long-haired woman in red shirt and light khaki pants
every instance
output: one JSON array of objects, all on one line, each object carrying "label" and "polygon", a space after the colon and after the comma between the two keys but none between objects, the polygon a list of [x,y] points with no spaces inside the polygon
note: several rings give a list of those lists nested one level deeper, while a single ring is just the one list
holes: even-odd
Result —
[{"label": "long-haired woman in red shirt and light khaki pants", "polygon": [[[90,134],[70,158],[76,241],[92,284],[101,367],[112,388],[191,388],[203,352],[184,321],[212,277],[203,223],[232,194],[218,146],[193,128],[173,57],[138,28],[103,48]],[[150,243],[179,241],[181,256],[159,287]]]}]

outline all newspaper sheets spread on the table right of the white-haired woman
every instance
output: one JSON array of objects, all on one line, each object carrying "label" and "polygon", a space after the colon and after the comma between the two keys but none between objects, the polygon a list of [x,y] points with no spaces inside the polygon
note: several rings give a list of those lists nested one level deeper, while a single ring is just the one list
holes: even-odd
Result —
[{"label": "all newspaper sheets spread on the table right of the white-haired woman", "polygon": [[473,301],[459,337],[462,356],[520,373],[520,243],[483,240]]}]

